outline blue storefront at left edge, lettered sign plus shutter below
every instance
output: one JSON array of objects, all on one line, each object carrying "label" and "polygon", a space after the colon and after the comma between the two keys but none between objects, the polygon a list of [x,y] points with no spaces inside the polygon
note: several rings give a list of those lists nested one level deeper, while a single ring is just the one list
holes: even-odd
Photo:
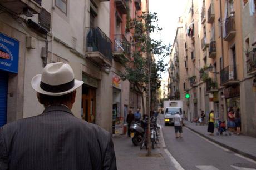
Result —
[{"label": "blue storefront at left edge, lettered sign plus shutter below", "polygon": [[9,73],[18,73],[19,42],[0,33],[0,127],[7,122]]}]

